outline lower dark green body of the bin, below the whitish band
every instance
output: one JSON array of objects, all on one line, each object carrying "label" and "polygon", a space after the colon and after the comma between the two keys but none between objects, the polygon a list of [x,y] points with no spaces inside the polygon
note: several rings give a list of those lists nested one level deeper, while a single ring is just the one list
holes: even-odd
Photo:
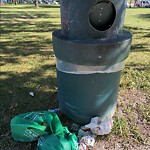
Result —
[{"label": "lower dark green body of the bin, below the whitish band", "polygon": [[57,70],[58,101],[61,111],[80,124],[92,117],[113,115],[121,71],[115,73],[70,74]]}]

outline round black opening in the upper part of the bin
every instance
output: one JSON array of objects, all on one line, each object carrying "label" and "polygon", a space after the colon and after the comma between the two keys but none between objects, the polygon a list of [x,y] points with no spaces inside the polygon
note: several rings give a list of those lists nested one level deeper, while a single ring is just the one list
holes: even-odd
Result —
[{"label": "round black opening in the upper part of the bin", "polygon": [[91,25],[99,31],[109,29],[116,18],[115,6],[110,1],[101,1],[95,4],[89,12]]}]

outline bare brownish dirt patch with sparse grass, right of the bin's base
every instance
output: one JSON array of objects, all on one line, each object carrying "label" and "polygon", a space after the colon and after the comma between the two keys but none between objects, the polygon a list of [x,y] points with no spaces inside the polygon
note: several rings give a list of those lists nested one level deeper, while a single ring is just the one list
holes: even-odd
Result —
[{"label": "bare brownish dirt patch with sparse grass, right of the bin's base", "polygon": [[[130,120],[129,124],[124,126],[124,129],[127,129],[121,131],[127,132],[127,135],[125,133],[112,133],[105,139],[98,140],[95,144],[95,150],[149,150],[150,125],[142,114],[143,109],[145,112],[149,111],[148,105],[149,97],[144,92],[137,90],[121,91],[116,115],[122,120]],[[134,132],[136,135],[133,135]]]}]

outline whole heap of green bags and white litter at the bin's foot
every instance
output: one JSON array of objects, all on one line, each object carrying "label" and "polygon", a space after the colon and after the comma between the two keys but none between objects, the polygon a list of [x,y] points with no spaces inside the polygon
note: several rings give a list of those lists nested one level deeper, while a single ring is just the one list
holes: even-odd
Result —
[{"label": "whole heap of green bags and white litter at the bin's foot", "polygon": [[15,116],[10,124],[13,139],[21,142],[38,141],[37,150],[91,150],[98,135],[111,132],[112,118],[102,120],[94,117],[89,124],[81,127],[72,124],[71,129],[78,132],[76,136],[62,126],[56,114],[59,111],[56,108]]}]

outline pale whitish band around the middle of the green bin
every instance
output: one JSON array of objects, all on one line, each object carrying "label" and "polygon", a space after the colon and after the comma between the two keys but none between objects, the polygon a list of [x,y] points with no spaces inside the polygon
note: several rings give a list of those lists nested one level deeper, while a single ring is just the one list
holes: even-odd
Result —
[{"label": "pale whitish band around the middle of the green bin", "polygon": [[85,66],[68,63],[56,58],[56,68],[61,72],[72,74],[113,73],[123,70],[124,65],[125,61],[107,66]]}]

